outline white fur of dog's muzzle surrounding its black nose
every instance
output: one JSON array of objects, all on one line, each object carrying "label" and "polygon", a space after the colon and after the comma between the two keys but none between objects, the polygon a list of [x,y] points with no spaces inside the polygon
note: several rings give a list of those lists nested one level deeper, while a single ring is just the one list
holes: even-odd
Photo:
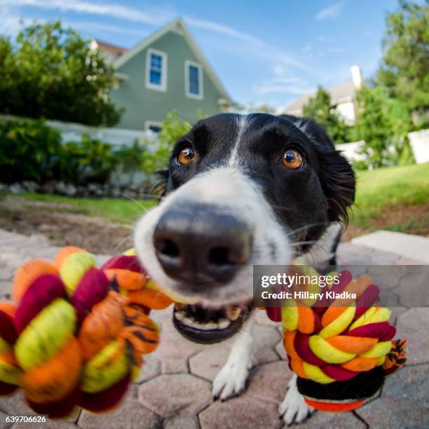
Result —
[{"label": "white fur of dog's muzzle surrounding its black nose", "polygon": [[[244,126],[244,124],[243,124]],[[239,143],[239,139],[237,140]],[[214,168],[193,177],[170,193],[158,207],[137,224],[135,247],[149,275],[161,287],[183,294],[183,285],[168,277],[154,249],[154,230],[160,217],[177,204],[198,203],[214,206],[214,210],[237,217],[253,234],[252,256],[246,266],[226,285],[189,290],[189,296],[207,306],[223,306],[252,298],[252,266],[254,264],[289,264],[292,252],[285,230],[275,219],[271,206],[251,179],[238,168]],[[191,288],[190,288],[191,289]]]}]

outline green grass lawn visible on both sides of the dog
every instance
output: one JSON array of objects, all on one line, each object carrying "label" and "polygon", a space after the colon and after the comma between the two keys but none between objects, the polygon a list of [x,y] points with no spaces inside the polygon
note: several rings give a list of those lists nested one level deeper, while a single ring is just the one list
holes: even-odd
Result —
[{"label": "green grass lawn visible on both sides of the dog", "polygon": [[[155,205],[154,201],[126,200],[116,198],[67,198],[27,193],[27,200],[50,203],[65,203],[69,207],[46,210],[76,212],[106,217],[114,222],[134,222],[142,213]],[[388,210],[404,210],[404,206],[429,204],[429,163],[402,167],[379,168],[374,171],[357,172],[357,193],[355,206],[350,214],[350,226],[362,229],[387,228],[394,231],[412,231],[416,222],[426,222],[427,217],[414,219],[412,216],[399,224],[386,221],[386,225],[375,224],[381,214]],[[404,217],[404,216],[403,216]],[[392,221],[393,222],[393,221]]]}]

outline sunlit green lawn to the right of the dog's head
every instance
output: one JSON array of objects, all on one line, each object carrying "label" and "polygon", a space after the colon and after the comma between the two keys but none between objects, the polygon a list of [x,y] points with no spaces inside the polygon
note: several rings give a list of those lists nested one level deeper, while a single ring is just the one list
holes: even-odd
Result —
[{"label": "sunlit green lawn to the right of the dog's head", "polygon": [[350,224],[362,225],[394,205],[429,203],[429,163],[357,172]]}]

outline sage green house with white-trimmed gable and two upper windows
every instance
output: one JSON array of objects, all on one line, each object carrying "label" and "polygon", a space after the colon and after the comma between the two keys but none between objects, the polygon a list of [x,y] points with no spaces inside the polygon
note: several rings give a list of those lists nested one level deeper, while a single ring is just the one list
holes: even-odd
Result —
[{"label": "sage green house with white-trimmed gable and two upper windows", "polygon": [[111,92],[111,99],[125,108],[119,128],[156,132],[168,111],[175,110],[192,123],[198,111],[210,116],[231,104],[182,18],[130,50],[100,41],[93,43],[114,64],[120,79]]}]

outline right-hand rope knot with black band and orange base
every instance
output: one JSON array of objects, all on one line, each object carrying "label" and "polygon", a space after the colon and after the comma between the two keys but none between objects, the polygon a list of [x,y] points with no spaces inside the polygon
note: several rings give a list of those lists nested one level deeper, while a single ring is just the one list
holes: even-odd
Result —
[{"label": "right-hand rope knot with black band and orange base", "polygon": [[[318,285],[309,288],[320,290]],[[324,296],[283,307],[283,344],[307,404],[322,411],[350,411],[379,391],[386,374],[404,365],[407,341],[392,341],[396,329],[389,323],[391,312],[376,306],[379,288],[369,276],[353,280],[349,271],[342,271],[329,290],[355,293],[356,299]],[[273,309],[267,313],[277,318]]]}]

